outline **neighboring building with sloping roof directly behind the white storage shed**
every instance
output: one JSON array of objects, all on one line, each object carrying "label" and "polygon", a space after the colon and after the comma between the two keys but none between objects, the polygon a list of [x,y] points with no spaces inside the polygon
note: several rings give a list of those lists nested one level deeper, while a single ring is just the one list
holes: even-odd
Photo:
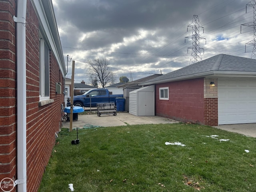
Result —
[{"label": "neighboring building with sloping roof directly behind the white storage shed", "polygon": [[138,80],[135,80],[135,81],[132,81],[132,82],[128,82],[128,83],[125,83],[125,84],[122,84],[122,85],[119,85],[119,86],[116,86],[118,88],[122,88],[123,89],[123,92],[124,92],[124,98],[125,98],[125,111],[129,111],[129,93],[131,91],[134,91],[136,89],[139,89],[141,88],[142,86],[139,85],[143,82],[148,82],[154,78],[157,78],[159,76],[162,76],[162,74],[154,74],[154,75],[150,75],[148,77],[144,77],[144,78],[141,78],[141,79],[138,79]]}]

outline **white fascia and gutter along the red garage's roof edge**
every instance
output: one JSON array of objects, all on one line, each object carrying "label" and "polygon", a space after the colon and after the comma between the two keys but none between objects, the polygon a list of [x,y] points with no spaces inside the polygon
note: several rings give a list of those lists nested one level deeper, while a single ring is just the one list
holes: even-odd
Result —
[{"label": "white fascia and gutter along the red garage's roof edge", "polygon": [[256,78],[256,72],[244,72],[244,71],[209,71],[209,72],[203,72],[198,74],[192,74],[187,76],[179,76],[175,78],[168,78],[158,81],[152,81],[152,82],[145,82],[138,84],[140,86],[144,85],[152,85],[152,84],[160,84],[160,83],[166,83],[166,82],[172,82],[172,81],[179,81],[179,80],[186,80],[186,79],[194,79],[194,78],[200,78],[200,77],[241,77],[241,78]]}]

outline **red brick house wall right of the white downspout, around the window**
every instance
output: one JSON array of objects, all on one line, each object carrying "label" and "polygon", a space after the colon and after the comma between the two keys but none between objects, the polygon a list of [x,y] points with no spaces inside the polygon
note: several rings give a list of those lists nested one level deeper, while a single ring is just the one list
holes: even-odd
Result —
[{"label": "red brick house wall right of the white downspout, around the window", "polygon": [[[54,102],[38,106],[39,102],[39,37],[38,19],[30,1],[27,6],[27,189],[37,191],[45,166],[55,144],[55,132],[61,126],[63,94],[56,94],[56,82],[64,78],[50,51],[50,99]],[[62,86],[63,88],[63,86]],[[62,90],[63,91],[63,90]]]}]

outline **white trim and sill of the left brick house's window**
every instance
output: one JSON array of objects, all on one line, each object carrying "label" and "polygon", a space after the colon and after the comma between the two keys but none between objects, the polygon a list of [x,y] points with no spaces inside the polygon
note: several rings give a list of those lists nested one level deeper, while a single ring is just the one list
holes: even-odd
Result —
[{"label": "white trim and sill of the left brick house's window", "polygon": [[[40,39],[40,94],[39,94],[39,100],[44,101],[44,100],[50,100],[50,84],[49,84],[49,96],[45,96],[45,78],[44,78],[44,40],[41,38]],[[50,61],[50,58],[49,58]],[[50,64],[49,64],[49,75],[50,75]],[[50,76],[48,77],[50,79]],[[49,82],[50,83],[50,82]]]}]

